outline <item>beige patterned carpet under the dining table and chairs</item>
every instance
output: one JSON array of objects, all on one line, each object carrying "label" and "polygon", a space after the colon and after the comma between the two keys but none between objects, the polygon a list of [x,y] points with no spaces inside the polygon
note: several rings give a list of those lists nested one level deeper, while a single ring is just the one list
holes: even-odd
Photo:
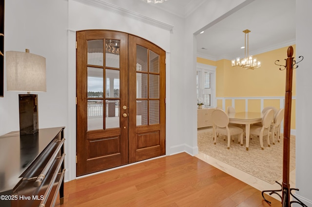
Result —
[{"label": "beige patterned carpet under the dining table and chairs", "polygon": [[[282,136],[283,139],[283,136]],[[271,147],[267,146],[267,137],[264,137],[264,150],[261,150],[259,138],[254,137],[249,142],[249,151],[246,151],[246,143],[244,138],[244,146],[240,146],[237,137],[231,140],[231,147],[227,149],[227,138],[224,141],[223,136],[218,137],[214,144],[213,133],[202,132],[197,135],[199,151],[210,155],[222,162],[233,167],[252,174],[261,180],[273,184],[283,176],[283,141],[277,142]],[[291,136],[290,150],[290,171],[295,168],[295,137]]]}]

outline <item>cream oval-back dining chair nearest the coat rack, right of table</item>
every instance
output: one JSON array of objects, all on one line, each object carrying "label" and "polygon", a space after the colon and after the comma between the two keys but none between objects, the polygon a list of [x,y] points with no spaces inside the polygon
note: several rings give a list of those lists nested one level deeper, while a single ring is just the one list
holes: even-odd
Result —
[{"label": "cream oval-back dining chair nearest the coat rack, right of table", "polygon": [[267,142],[268,147],[270,147],[270,126],[273,121],[273,117],[273,109],[268,109],[262,117],[261,126],[255,124],[250,126],[250,134],[259,136],[260,147],[262,150],[264,150],[263,136],[268,136]]}]

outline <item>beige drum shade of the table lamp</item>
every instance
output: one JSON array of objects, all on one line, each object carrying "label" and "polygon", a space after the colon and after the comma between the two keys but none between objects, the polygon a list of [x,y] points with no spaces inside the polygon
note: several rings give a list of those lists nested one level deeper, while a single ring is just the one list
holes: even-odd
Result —
[{"label": "beige drum shade of the table lamp", "polygon": [[45,58],[26,52],[7,51],[6,86],[13,91],[46,91]]}]

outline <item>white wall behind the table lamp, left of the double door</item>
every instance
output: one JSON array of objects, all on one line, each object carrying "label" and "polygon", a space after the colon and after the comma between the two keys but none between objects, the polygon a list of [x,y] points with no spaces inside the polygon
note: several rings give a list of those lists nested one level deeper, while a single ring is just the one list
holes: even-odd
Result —
[{"label": "white wall behind the table lamp, left of the double door", "polygon": [[[67,1],[6,0],[4,13],[4,51],[24,52],[27,48],[46,58],[47,92],[39,93],[39,127],[66,125]],[[4,77],[1,135],[19,130],[19,92],[6,91],[5,66]]]}]

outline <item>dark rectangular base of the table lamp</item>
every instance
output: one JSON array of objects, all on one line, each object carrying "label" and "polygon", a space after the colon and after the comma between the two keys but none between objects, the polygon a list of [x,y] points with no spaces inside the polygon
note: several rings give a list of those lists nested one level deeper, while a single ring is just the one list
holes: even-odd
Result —
[{"label": "dark rectangular base of the table lamp", "polygon": [[38,133],[37,94],[19,94],[20,135]]}]

